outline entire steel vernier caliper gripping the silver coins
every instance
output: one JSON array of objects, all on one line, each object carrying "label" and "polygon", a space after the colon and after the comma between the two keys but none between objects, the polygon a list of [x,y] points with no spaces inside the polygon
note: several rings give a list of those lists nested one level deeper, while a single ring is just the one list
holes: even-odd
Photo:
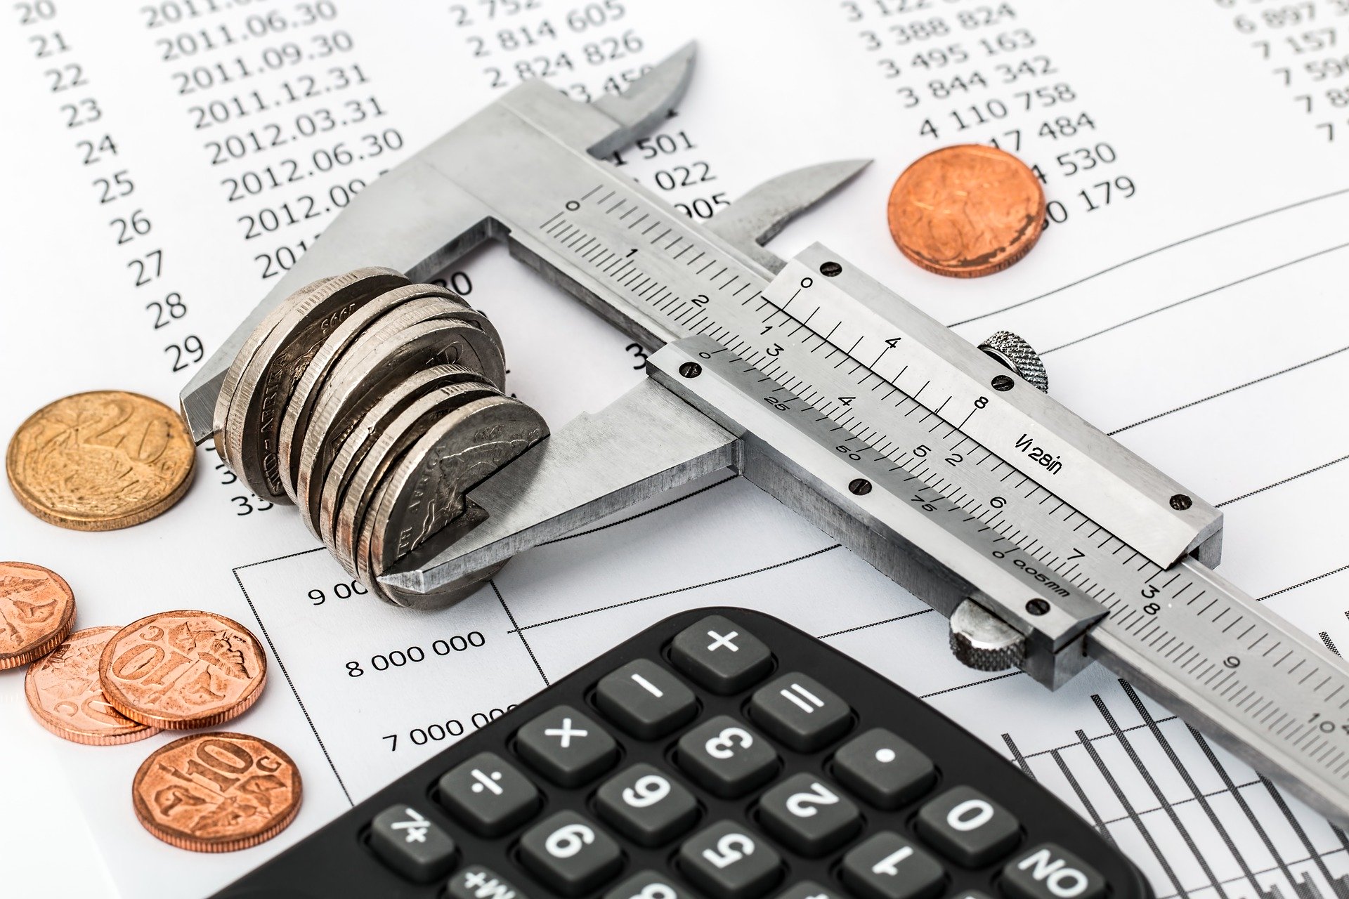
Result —
[{"label": "entire steel vernier caliper gripping the silver coins", "polygon": [[602,162],[668,116],[692,62],[591,105],[525,82],[367,187],[183,391],[194,438],[297,287],[357,266],[421,280],[503,240],[658,352],[471,491],[484,523],[383,580],[425,593],[733,468],[948,616],[967,664],[1058,687],[1101,660],[1349,824],[1349,669],[1210,570],[1213,505],[1035,390],[1014,344],[973,346],[820,244],[762,247],[865,163],[789,173],[700,224]]}]

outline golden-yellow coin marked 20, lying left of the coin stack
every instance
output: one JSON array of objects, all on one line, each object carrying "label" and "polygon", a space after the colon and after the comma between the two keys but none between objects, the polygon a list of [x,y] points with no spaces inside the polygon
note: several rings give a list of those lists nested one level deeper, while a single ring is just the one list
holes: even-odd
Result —
[{"label": "golden-yellow coin marked 20, lying left of the coin stack", "polygon": [[167,511],[188,492],[196,460],[178,412],[139,394],[94,391],[28,416],[9,441],[5,473],[43,522],[111,531]]}]

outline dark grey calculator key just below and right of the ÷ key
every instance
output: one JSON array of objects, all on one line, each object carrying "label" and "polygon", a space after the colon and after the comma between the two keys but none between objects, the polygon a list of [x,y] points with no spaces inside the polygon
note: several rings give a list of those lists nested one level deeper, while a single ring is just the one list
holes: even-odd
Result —
[{"label": "dark grey calculator key just below and right of the \u00f7 key", "polygon": [[590,892],[623,867],[614,838],[575,811],[558,811],[526,830],[519,857],[530,873],[564,896]]}]

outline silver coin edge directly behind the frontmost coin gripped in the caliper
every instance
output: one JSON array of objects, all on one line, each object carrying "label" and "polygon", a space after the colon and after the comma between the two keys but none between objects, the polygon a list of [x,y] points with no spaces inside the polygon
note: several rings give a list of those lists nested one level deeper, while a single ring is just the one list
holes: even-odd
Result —
[{"label": "silver coin edge directly behind the frontmost coin gripped in the caliper", "polygon": [[[356,543],[360,538],[360,526],[370,507],[370,500],[383,481],[384,474],[398,464],[426,430],[437,421],[445,418],[456,408],[480,399],[500,398],[491,384],[447,384],[437,387],[430,394],[413,400],[393,422],[375,438],[374,445],[366,453],[348,478],[345,489],[339,492],[339,499],[333,507],[331,522],[332,531],[324,530],[324,518],[320,509],[320,532],[328,539],[328,549],[332,550],[337,561],[341,562],[351,574],[356,574]],[[329,470],[329,476],[333,472]]]}]

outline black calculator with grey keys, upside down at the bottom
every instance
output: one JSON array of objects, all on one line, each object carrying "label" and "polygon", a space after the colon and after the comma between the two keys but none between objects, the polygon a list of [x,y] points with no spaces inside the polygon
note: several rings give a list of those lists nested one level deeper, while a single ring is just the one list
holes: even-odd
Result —
[{"label": "black calculator with grey keys, upside down at the bottom", "polygon": [[219,899],[1151,899],[971,733],[749,609],[665,619]]}]

